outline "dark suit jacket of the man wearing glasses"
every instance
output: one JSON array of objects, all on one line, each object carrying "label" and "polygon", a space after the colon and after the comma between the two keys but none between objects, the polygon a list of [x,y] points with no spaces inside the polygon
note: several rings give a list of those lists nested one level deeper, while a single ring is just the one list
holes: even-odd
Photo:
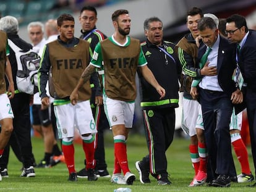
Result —
[{"label": "dark suit jacket of the man wearing glasses", "polygon": [[256,31],[249,31],[247,40],[239,52],[238,64],[247,88],[256,90]]}]

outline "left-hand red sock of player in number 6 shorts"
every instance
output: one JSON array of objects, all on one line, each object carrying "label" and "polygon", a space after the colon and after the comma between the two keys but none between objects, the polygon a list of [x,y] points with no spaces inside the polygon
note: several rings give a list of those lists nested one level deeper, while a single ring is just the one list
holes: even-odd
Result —
[{"label": "left-hand red sock of player in number 6 shorts", "polygon": [[62,144],[62,151],[65,157],[67,169],[69,169],[69,174],[72,172],[75,172],[74,144],[70,144],[70,145]]}]

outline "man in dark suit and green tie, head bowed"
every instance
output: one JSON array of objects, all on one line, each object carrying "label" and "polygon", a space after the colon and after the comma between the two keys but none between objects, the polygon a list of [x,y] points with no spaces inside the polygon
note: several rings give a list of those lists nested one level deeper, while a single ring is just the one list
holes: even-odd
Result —
[{"label": "man in dark suit and green tie, head bowed", "polygon": [[[227,187],[230,186],[230,177],[233,176],[231,173],[235,169],[230,145],[230,117],[233,104],[242,102],[242,92],[232,80],[236,68],[236,46],[218,35],[216,23],[210,17],[203,17],[198,22],[198,30],[205,44],[198,51],[199,61],[201,58],[199,66],[202,68],[206,64],[208,67],[217,67],[217,75],[195,79],[190,94],[193,98],[198,97],[202,104],[208,173],[212,177],[210,184]],[[206,52],[208,56],[205,55]],[[215,178],[215,175],[218,177]]]}]

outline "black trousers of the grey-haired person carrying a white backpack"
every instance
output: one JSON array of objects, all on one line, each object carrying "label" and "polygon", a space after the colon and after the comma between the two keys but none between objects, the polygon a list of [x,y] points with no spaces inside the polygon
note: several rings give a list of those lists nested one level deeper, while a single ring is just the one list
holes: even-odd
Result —
[{"label": "black trousers of the grey-haired person carrying a white backpack", "polygon": [[28,168],[33,165],[31,124],[30,124],[30,95],[17,93],[11,99],[12,111],[14,112],[12,136],[4,150],[3,157],[0,158],[2,168],[7,168],[9,160],[9,145],[19,159],[23,162],[23,167]]}]

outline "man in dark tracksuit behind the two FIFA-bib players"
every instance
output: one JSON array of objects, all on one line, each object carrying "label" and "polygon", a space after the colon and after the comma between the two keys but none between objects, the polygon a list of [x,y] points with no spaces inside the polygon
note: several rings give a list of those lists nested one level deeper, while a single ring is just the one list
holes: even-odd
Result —
[{"label": "man in dark tracksuit behind the two FIFA-bib players", "polygon": [[[106,35],[104,35],[100,30],[96,28],[97,20],[97,11],[95,7],[85,6],[80,10],[79,22],[82,27],[82,35],[80,36],[80,38],[83,40],[87,40],[90,43],[90,48],[92,49],[92,52],[90,52],[91,57],[93,56],[93,51],[96,44],[98,44],[99,41],[105,40],[106,38]],[[110,177],[105,161],[105,148],[103,137],[103,130],[109,127],[108,120],[106,119],[103,108],[101,90],[103,70],[98,70],[95,73],[96,75],[94,75],[94,77],[96,78],[90,78],[91,84],[93,83],[92,98],[90,99],[90,103],[92,107],[93,117],[95,118],[96,128],[98,130],[98,133],[96,133],[95,135],[95,173],[100,177]],[[101,82],[99,82],[98,76],[100,77]],[[77,173],[77,177],[87,177],[87,175],[88,174],[85,168]]]}]

